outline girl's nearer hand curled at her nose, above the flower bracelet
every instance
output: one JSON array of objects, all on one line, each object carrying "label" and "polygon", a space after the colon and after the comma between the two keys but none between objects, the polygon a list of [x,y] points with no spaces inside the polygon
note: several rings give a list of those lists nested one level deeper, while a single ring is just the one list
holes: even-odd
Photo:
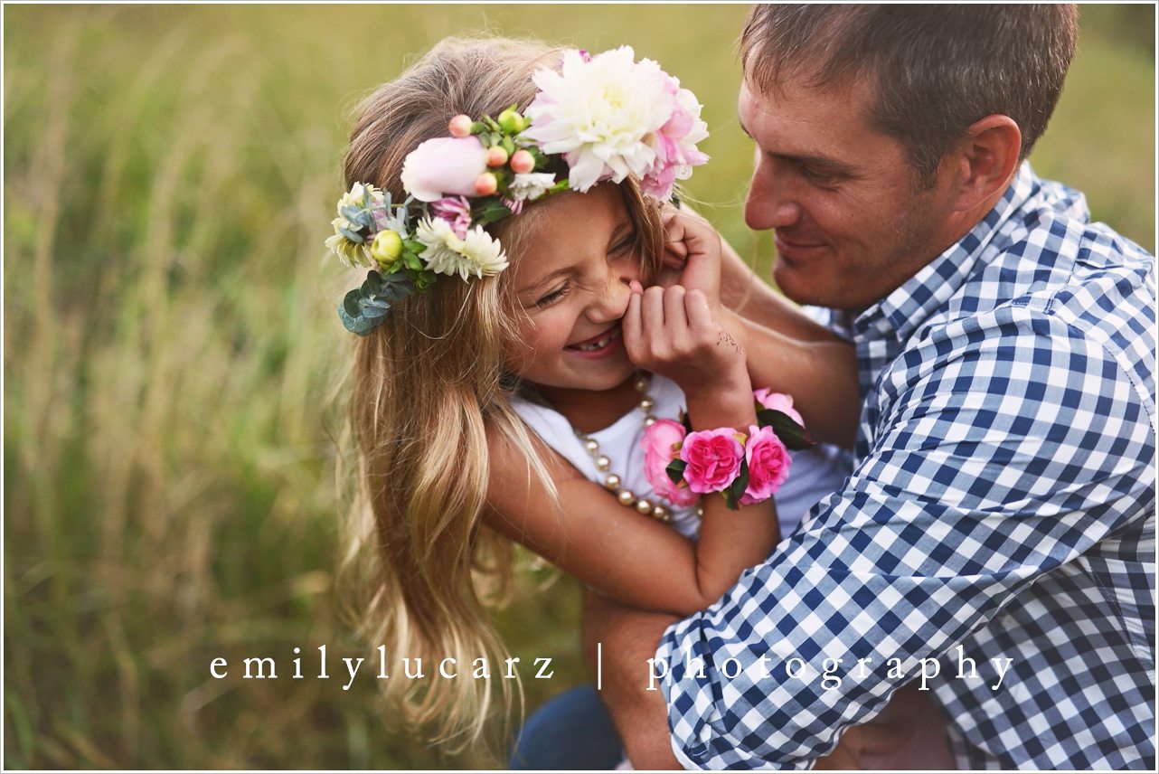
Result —
[{"label": "girl's nearer hand curled at her nose, above the flower bracelet", "polygon": [[621,326],[632,362],[675,381],[690,402],[726,390],[745,395],[751,404],[744,349],[713,317],[702,290],[646,290],[633,280]]}]

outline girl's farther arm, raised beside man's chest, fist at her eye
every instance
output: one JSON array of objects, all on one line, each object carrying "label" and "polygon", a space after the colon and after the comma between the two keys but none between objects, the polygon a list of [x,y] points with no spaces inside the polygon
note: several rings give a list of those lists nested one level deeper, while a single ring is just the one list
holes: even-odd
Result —
[{"label": "girl's farther arm, raised beside man's chest, fist at her eye", "polygon": [[672,210],[666,225],[669,272],[705,292],[748,352],[752,384],[792,395],[815,439],[852,448],[861,412],[853,345],[766,285],[700,216]]}]

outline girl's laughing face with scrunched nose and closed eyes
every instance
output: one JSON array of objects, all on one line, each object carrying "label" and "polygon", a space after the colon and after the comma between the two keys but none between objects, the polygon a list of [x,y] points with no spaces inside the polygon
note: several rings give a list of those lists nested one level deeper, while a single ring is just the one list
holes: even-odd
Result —
[{"label": "girl's laughing face with scrunched nose and closed eyes", "polygon": [[643,283],[635,226],[614,184],[556,197],[539,205],[512,269],[508,367],[542,387],[611,389],[635,370],[620,336],[628,283]]}]

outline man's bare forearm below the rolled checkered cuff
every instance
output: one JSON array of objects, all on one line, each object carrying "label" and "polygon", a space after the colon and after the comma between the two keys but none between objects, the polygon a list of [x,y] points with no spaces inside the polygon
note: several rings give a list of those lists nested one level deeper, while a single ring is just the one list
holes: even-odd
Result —
[{"label": "man's bare forearm below the rolled checkered cuff", "polygon": [[583,647],[595,673],[603,643],[600,699],[612,714],[628,759],[640,769],[679,769],[668,729],[668,703],[648,691],[648,659],[676,619],[626,607],[593,591],[584,592]]}]

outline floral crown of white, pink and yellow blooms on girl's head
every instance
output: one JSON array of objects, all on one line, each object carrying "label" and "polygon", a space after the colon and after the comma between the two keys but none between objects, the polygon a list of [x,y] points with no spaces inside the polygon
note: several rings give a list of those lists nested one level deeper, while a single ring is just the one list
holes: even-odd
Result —
[{"label": "floral crown of white, pink and yellow blooms on girl's head", "polygon": [[450,137],[411,151],[401,204],[369,183],[338,199],[326,246],[348,266],[370,269],[338,307],[348,330],[365,336],[393,302],[439,275],[469,280],[503,271],[506,254],[483,227],[527,203],[628,175],[664,202],[677,180],[708,161],[697,149],[708,137],[697,97],[655,61],[635,61],[630,46],[566,51],[559,68],[540,68],[532,81],[539,92],[524,115],[511,105],[497,118],[455,116]]}]

